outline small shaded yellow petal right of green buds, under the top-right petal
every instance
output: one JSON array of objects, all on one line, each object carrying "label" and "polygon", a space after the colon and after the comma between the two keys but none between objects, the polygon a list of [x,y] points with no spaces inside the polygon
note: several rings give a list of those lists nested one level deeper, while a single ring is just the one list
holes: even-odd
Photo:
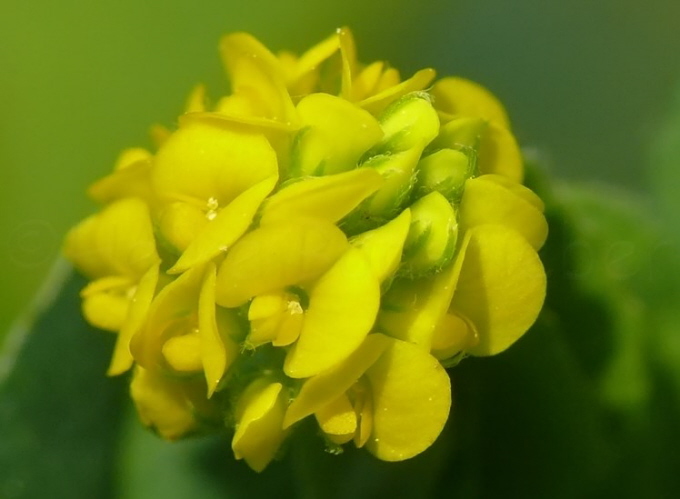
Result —
[{"label": "small shaded yellow petal right of green buds, under the top-right petal", "polygon": [[507,128],[489,123],[479,146],[478,166],[481,173],[496,173],[522,183],[522,153],[517,140]]}]

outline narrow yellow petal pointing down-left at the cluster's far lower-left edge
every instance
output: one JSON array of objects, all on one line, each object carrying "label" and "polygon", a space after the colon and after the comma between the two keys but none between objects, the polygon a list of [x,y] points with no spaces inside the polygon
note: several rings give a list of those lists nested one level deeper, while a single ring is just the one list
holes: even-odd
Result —
[{"label": "narrow yellow petal pointing down-left at the cluster's far lower-left edge", "polygon": [[109,376],[122,374],[132,367],[133,359],[130,353],[130,341],[146,322],[147,313],[156,292],[156,285],[158,284],[158,274],[159,264],[153,265],[142,276],[137,285],[137,290],[132,297],[125,323],[116,339],[113,358],[107,371]]}]

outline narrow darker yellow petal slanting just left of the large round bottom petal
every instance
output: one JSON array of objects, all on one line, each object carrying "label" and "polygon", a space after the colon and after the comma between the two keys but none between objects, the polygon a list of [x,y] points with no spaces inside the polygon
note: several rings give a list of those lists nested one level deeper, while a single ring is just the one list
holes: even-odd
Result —
[{"label": "narrow darker yellow petal slanting just left of the large round bottom petal", "polygon": [[357,382],[366,370],[387,348],[389,338],[382,334],[369,334],[361,346],[344,362],[308,379],[295,400],[288,406],[283,425],[300,421],[320,410]]}]

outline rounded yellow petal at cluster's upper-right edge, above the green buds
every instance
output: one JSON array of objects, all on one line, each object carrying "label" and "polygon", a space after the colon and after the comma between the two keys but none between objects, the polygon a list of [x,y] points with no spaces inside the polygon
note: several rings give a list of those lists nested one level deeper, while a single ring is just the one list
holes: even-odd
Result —
[{"label": "rounded yellow petal at cluster's upper-right edge, above the green buds", "polygon": [[438,110],[453,116],[484,118],[510,128],[503,105],[491,92],[477,83],[464,78],[442,78],[434,84],[430,92]]}]

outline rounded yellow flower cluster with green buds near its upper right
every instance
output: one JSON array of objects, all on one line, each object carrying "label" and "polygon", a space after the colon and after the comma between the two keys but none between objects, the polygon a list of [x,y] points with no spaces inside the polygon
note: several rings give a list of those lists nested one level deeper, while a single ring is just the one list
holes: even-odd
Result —
[{"label": "rounded yellow flower cluster with green buds near its upper right", "polygon": [[361,64],[347,29],[296,57],[220,45],[231,93],[197,87],[155,153],[124,151],[65,253],[87,320],[117,334],[142,421],[228,428],[264,469],[303,418],[398,461],[451,405],[443,366],[532,325],[547,225],[500,103],[431,69]]}]

